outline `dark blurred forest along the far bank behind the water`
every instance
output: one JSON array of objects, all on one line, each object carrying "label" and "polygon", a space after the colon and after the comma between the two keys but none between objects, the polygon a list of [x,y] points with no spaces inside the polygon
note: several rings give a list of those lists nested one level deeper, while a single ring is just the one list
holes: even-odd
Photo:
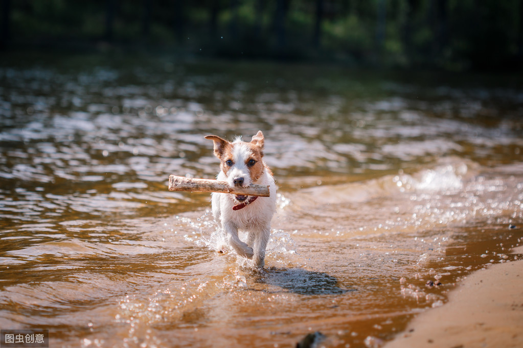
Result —
[{"label": "dark blurred forest along the far bank behind the water", "polygon": [[0,0],[3,51],[523,67],[523,0]]}]

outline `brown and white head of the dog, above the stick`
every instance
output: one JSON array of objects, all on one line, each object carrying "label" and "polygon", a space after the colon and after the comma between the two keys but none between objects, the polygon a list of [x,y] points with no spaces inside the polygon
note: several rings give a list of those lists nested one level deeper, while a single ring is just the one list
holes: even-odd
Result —
[{"label": "brown and white head of the dog, above the stick", "polygon": [[264,136],[261,130],[250,142],[242,141],[239,137],[233,142],[215,135],[205,138],[214,142],[214,155],[220,159],[220,168],[229,185],[248,187],[256,183],[263,174]]}]

